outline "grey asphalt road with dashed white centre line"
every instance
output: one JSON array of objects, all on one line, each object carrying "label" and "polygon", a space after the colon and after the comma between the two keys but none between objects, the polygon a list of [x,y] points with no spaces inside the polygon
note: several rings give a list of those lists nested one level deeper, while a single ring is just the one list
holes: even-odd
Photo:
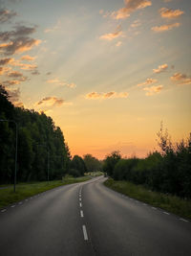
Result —
[{"label": "grey asphalt road with dashed white centre line", "polygon": [[0,210],[1,256],[190,256],[191,222],[106,188],[104,177]]}]

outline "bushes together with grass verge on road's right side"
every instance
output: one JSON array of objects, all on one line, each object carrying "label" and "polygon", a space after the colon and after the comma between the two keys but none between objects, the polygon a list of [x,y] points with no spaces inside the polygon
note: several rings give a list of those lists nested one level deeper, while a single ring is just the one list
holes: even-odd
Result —
[{"label": "bushes together with grass verge on road's right side", "polygon": [[106,185],[180,216],[191,219],[191,134],[173,144],[161,124],[160,151],[146,158],[122,158],[118,151],[107,155],[103,172],[113,179]]}]

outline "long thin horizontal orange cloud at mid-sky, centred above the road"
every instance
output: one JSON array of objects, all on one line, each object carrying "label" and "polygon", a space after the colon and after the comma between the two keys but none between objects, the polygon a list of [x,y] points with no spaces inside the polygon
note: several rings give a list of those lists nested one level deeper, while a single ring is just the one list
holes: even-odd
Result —
[{"label": "long thin horizontal orange cloud at mid-sky, centred above the road", "polygon": [[129,96],[128,92],[106,92],[106,93],[97,93],[97,92],[91,92],[86,94],[85,98],[89,100],[106,100],[106,99],[115,99],[115,98],[127,98]]}]

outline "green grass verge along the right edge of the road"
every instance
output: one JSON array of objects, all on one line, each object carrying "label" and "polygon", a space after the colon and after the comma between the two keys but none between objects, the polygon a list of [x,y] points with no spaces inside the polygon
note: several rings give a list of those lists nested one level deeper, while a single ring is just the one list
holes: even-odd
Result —
[{"label": "green grass verge along the right edge of the road", "polygon": [[150,205],[159,207],[180,217],[191,220],[191,201],[175,196],[153,192],[141,185],[135,185],[128,181],[116,181],[107,179],[104,185],[130,198],[136,198]]}]

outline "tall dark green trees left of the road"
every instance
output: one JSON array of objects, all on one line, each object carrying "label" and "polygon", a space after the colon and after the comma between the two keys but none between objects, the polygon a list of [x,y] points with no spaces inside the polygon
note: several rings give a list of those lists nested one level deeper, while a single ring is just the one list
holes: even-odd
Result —
[{"label": "tall dark green trees left of the road", "polygon": [[66,174],[84,175],[90,169],[89,162],[96,159],[92,155],[72,158],[64,135],[53,119],[44,113],[14,107],[5,87],[0,85],[0,184],[13,182],[16,137],[19,182],[59,179]]}]

